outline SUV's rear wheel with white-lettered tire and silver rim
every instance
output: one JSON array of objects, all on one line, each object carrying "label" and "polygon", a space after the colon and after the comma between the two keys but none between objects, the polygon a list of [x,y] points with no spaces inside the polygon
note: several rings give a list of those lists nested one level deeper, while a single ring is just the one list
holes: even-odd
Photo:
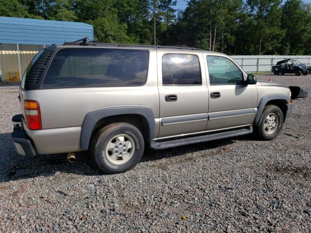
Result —
[{"label": "SUV's rear wheel with white-lettered tire and silver rim", "polygon": [[130,170],[138,164],[144,151],[144,139],[134,125],[112,123],[93,137],[90,154],[101,170],[108,174]]}]

